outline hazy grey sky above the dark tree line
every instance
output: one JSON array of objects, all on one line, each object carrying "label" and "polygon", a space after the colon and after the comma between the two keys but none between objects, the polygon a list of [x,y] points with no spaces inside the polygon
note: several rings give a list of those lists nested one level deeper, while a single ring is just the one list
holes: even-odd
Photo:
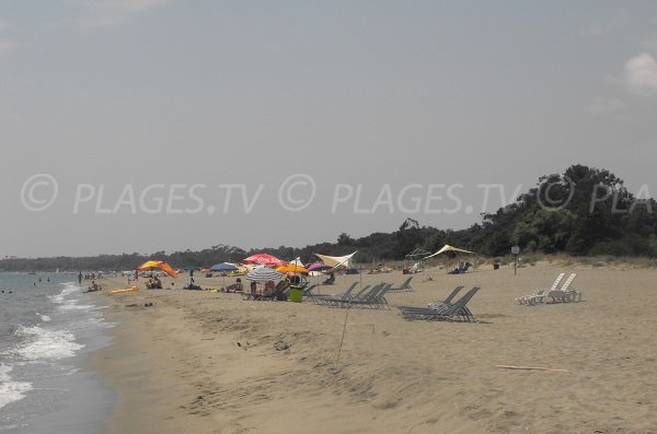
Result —
[{"label": "hazy grey sky above the dark tree line", "polygon": [[4,1],[0,256],[462,228],[575,163],[655,196],[656,59],[652,1]]}]

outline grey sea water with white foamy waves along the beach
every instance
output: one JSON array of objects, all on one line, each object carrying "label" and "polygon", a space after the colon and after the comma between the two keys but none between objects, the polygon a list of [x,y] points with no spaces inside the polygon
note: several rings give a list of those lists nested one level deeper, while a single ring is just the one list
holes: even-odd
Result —
[{"label": "grey sea water with white foamy waves along the beach", "polygon": [[110,343],[77,275],[0,273],[0,434],[105,431],[115,397],[87,366]]}]

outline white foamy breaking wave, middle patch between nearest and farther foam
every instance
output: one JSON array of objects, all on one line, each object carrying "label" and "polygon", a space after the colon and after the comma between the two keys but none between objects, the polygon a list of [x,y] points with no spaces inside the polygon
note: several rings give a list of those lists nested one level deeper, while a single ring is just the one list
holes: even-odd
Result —
[{"label": "white foamy breaking wave, middle patch between nearest and farther foam", "polygon": [[19,327],[14,335],[25,340],[13,352],[26,360],[58,360],[71,357],[84,345],[76,342],[76,337],[65,330],[46,330],[38,326]]}]

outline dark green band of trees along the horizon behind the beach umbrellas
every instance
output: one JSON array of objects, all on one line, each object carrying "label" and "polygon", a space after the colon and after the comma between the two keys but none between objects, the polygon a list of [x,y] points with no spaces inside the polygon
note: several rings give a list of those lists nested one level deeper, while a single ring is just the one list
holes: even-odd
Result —
[{"label": "dark green band of trees along the horizon behind the beach umbrellas", "polygon": [[521,195],[517,202],[483,214],[482,223],[461,231],[420,226],[417,221],[406,219],[393,233],[373,233],[361,238],[343,233],[336,243],[303,248],[280,246],[246,251],[220,244],[200,251],[157,251],[147,256],[4,258],[0,260],[0,270],[130,270],[150,258],[180,268],[209,267],[222,261],[238,262],[260,251],[284,259],[300,256],[311,260],[313,253],[345,255],[358,250],[357,261],[367,263],[404,259],[415,248],[436,251],[445,244],[484,256],[507,255],[511,246],[519,245],[522,251],[543,254],[657,257],[655,212],[657,203],[653,199],[634,197],[609,171],[574,165],[564,174],[539,178],[537,187]]}]

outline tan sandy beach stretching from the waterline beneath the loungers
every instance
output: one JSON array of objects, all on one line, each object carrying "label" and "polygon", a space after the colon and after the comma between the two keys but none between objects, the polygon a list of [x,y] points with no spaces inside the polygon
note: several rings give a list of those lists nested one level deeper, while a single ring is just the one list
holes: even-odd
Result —
[{"label": "tan sandy beach stretching from the waterline beneath the loungers", "polygon": [[[585,303],[515,303],[573,271]],[[119,394],[110,433],[655,433],[655,270],[548,263],[517,277],[508,267],[431,270],[414,277],[415,291],[390,294],[390,310],[207,291],[90,294],[111,300],[119,322],[94,367]],[[476,324],[408,321],[394,307],[426,305],[460,284],[482,286],[470,304]]]}]

